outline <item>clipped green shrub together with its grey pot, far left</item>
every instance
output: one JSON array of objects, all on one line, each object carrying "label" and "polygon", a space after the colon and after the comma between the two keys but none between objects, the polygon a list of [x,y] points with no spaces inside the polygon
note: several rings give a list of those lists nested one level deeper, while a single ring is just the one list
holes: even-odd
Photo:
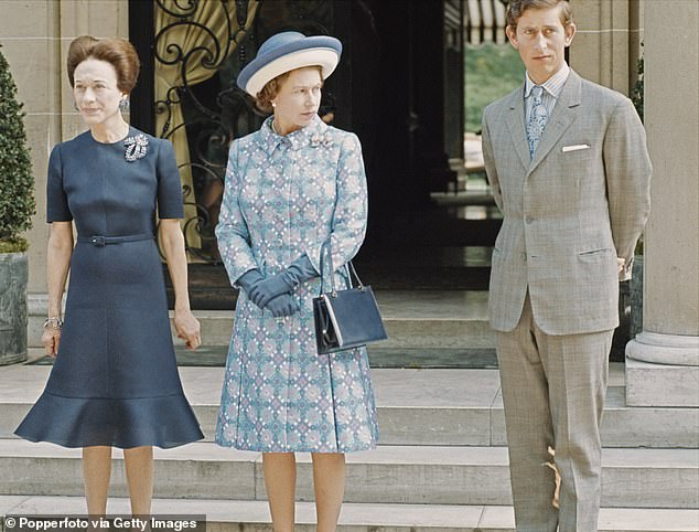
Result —
[{"label": "clipped green shrub together with its grey pot, far left", "polygon": [[24,111],[0,50],[0,365],[26,360],[26,248],[35,212]]}]

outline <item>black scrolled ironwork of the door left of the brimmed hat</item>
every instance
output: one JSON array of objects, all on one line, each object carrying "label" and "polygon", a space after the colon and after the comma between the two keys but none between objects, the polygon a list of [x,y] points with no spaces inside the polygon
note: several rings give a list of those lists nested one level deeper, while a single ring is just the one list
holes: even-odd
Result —
[{"label": "black scrolled ironwork of the door left of the brimmed hat", "polygon": [[[185,221],[184,234],[190,255],[205,263],[219,263],[214,237],[218,210],[223,196],[227,152],[230,141],[258,129],[265,118],[252,99],[236,84],[240,70],[255,56],[258,43],[272,34],[295,30],[305,34],[329,34],[332,28],[332,0],[260,0],[251,28],[244,31],[249,12],[248,0],[154,0],[157,10],[174,20],[161,28],[154,38],[155,62],[178,65],[181,83],[170,87],[164,98],[154,103],[158,115],[165,119],[157,134],[169,138],[185,128],[190,148],[189,168],[192,188],[184,187],[185,205],[195,214]],[[226,36],[218,40],[207,21],[195,20],[202,1],[216,1],[225,13]],[[230,9],[235,6],[235,23]],[[170,42],[168,35],[175,29],[206,33],[205,44],[183,50],[182,43]],[[163,41],[164,40],[164,41]],[[162,43],[168,42],[162,50]],[[232,53],[233,51],[233,53]],[[215,73],[205,82],[193,84],[187,72],[191,66]],[[326,95],[332,102],[332,95]],[[183,124],[172,124],[172,107],[180,105]],[[193,233],[194,232],[194,233]],[[191,235],[196,234],[196,241]]]}]

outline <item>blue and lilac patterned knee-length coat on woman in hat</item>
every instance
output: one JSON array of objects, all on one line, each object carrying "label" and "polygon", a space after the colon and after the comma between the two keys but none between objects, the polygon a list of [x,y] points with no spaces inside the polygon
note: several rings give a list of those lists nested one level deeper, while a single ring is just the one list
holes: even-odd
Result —
[{"label": "blue and lilac patterned knee-length coat on woman in hat", "polygon": [[[234,286],[258,268],[270,276],[304,253],[320,274],[330,237],[335,281],[359,249],[367,191],[354,134],[320,117],[287,136],[271,117],[233,142],[216,227]],[[301,310],[277,320],[240,290],[218,413],[216,441],[267,453],[346,453],[375,447],[378,425],[365,349],[319,355],[312,299],[320,277],[299,285]]]}]

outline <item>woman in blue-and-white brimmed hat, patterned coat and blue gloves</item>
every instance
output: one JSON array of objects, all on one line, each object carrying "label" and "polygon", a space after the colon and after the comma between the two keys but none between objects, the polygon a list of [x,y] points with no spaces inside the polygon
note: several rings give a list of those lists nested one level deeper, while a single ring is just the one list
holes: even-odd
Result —
[{"label": "woman in blue-and-white brimmed hat, patterned coat and blue gloves", "polygon": [[216,227],[234,286],[241,288],[228,352],[216,443],[262,453],[276,531],[293,530],[294,451],[311,453],[318,530],[335,530],[344,454],[376,446],[378,426],[365,349],[319,355],[312,299],[330,238],[334,274],[366,230],[362,149],[318,116],[323,79],[342,46],[330,36],[273,35],[238,76],[261,128],[236,139]]}]

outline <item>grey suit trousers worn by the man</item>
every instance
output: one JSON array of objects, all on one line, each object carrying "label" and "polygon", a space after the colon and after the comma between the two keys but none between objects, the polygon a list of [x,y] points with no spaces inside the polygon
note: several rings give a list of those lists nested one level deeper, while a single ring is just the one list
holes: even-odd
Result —
[{"label": "grey suit trousers worn by the man", "polygon": [[[517,327],[496,333],[518,532],[598,530],[612,333],[546,334],[534,321],[528,295]],[[560,509],[552,506],[549,446],[561,476]]]}]

